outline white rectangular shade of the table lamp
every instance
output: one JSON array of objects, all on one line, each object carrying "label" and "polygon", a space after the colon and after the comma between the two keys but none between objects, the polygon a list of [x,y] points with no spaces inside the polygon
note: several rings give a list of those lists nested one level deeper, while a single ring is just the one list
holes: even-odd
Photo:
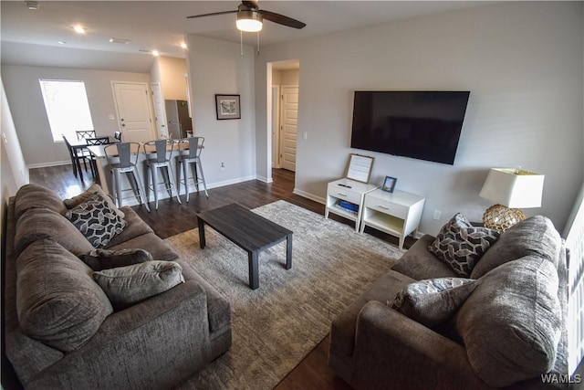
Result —
[{"label": "white rectangular shade of the table lamp", "polygon": [[510,208],[540,207],[544,177],[520,169],[493,168],[486,176],[480,196]]}]

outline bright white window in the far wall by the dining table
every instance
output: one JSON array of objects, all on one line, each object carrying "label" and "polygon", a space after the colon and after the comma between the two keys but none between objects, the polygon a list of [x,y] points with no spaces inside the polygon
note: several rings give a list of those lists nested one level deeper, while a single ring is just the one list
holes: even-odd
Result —
[{"label": "bright white window in the far wall by the dining table", "polygon": [[40,79],[48,124],[55,142],[77,140],[77,131],[93,130],[88,95],[83,81]]}]

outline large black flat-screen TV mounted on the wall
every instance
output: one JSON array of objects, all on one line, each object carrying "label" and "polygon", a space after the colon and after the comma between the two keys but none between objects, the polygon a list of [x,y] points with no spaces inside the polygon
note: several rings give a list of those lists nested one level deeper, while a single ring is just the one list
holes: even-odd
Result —
[{"label": "large black flat-screen TV mounted on the wall", "polygon": [[454,164],[469,91],[355,91],[350,147]]}]

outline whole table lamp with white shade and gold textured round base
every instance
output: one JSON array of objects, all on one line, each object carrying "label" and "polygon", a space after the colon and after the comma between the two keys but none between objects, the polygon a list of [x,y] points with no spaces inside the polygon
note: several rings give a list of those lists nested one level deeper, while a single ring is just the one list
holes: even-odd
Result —
[{"label": "whole table lamp with white shade and gold textured round base", "polygon": [[483,226],[505,231],[526,218],[521,208],[540,207],[544,175],[515,169],[492,168],[480,196],[495,202],[483,215]]}]

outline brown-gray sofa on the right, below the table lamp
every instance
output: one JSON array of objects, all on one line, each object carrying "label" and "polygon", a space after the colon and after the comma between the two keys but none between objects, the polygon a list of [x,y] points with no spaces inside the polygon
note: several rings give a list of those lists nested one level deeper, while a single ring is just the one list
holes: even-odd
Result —
[{"label": "brown-gray sofa on the right, below the table lamp", "polygon": [[567,259],[551,221],[534,216],[502,233],[462,304],[446,302],[451,315],[427,326],[390,303],[418,280],[460,277],[433,241],[421,237],[332,322],[334,371],[357,389],[566,388]]}]

